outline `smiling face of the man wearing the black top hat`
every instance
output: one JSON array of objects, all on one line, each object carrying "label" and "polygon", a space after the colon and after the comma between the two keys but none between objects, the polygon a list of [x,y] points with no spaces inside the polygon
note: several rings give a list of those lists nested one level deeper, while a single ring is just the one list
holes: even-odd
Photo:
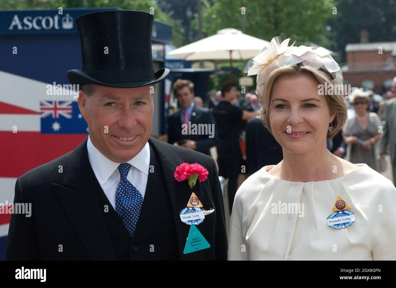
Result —
[{"label": "smiling face of the man wearing the black top hat", "polygon": [[111,161],[129,161],[150,138],[154,114],[150,86],[95,85],[89,97],[80,91],[78,106],[88,123],[92,144]]}]

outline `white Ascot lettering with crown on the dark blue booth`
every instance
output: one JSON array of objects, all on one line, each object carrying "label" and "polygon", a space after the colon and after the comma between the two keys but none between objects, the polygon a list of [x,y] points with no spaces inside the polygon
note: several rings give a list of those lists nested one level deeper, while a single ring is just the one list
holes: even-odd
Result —
[{"label": "white Ascot lettering with crown on the dark blue booth", "polygon": [[[64,17],[62,17],[61,25],[62,29],[72,29],[73,17],[71,17],[69,13],[67,13]],[[14,28],[16,28],[17,30],[30,30],[32,28],[35,30],[41,30],[42,28],[44,28],[45,30],[49,30],[52,28],[59,30],[59,15],[55,15],[53,17],[36,16],[34,18],[32,18],[31,16],[25,16],[21,21],[18,15],[15,14],[8,30],[14,30]]]}]

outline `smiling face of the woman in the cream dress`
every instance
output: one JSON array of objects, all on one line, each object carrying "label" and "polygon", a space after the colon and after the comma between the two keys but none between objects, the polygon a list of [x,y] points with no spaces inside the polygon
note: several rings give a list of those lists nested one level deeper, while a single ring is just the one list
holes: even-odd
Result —
[{"label": "smiling face of the woman in the cream dress", "polygon": [[329,123],[335,113],[330,115],[327,96],[318,95],[318,91],[318,82],[307,75],[278,78],[272,87],[272,133],[289,153],[304,154],[326,147]]}]

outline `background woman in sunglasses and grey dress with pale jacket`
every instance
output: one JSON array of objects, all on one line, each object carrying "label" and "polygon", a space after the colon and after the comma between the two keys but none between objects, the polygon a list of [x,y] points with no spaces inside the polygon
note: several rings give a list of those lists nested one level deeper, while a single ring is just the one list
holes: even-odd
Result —
[{"label": "background woman in sunglasses and grey dress with pale jacket", "polygon": [[351,104],[356,114],[348,119],[343,129],[343,139],[347,144],[345,160],[351,163],[366,163],[378,171],[377,142],[381,136],[381,120],[374,112],[367,111],[370,103],[369,93],[362,88],[351,93]]}]

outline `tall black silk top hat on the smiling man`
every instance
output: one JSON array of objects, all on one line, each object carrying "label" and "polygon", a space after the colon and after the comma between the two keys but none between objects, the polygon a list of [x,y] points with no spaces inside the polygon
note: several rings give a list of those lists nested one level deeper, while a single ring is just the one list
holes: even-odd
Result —
[{"label": "tall black silk top hat on the smiling man", "polygon": [[152,65],[153,22],[150,13],[132,10],[100,11],[77,17],[83,71],[67,71],[70,83],[131,88],[164,80],[169,69],[154,73]]}]

